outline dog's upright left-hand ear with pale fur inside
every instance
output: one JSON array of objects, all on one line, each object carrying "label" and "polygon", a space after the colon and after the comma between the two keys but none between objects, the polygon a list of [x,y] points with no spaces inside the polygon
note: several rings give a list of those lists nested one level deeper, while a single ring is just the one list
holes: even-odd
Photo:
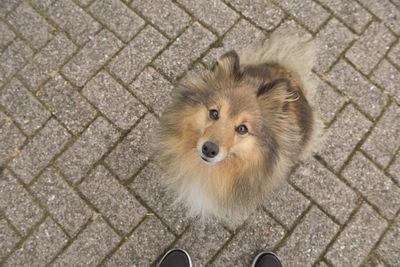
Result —
[{"label": "dog's upright left-hand ear with pale fur inside", "polygon": [[211,68],[211,71],[216,75],[232,76],[235,80],[240,80],[242,74],[240,73],[239,55],[235,50],[231,50],[223,54]]}]

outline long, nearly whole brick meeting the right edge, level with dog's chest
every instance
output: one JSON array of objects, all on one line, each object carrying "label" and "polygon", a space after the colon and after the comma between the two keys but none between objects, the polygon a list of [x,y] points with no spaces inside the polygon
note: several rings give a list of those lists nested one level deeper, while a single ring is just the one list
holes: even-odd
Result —
[{"label": "long, nearly whole brick meeting the right edge, level with dog's chest", "polygon": [[360,152],[346,166],[343,177],[389,219],[400,210],[400,188]]}]

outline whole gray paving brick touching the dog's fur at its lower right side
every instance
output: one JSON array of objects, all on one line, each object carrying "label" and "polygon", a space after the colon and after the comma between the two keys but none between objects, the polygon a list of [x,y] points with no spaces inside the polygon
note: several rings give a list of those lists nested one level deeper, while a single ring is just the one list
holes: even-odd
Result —
[{"label": "whole gray paving brick touching the dog's fur at its lower right side", "polygon": [[356,207],[356,193],[315,159],[300,165],[290,180],[341,224]]}]

